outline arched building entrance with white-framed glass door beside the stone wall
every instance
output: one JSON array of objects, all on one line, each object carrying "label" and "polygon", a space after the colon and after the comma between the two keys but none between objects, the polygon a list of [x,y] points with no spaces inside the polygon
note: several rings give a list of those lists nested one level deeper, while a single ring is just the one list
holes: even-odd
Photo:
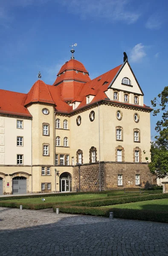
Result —
[{"label": "arched building entrance with white-framed glass door beside the stone wall", "polygon": [[60,175],[60,192],[72,191],[72,176],[69,172],[63,172]]}]

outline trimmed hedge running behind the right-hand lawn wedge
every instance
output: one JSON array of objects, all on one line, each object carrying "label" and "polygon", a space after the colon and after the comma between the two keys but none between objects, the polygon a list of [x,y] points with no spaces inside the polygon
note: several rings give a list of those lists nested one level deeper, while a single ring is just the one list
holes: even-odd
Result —
[{"label": "trimmed hedge running behind the right-hand lawn wedge", "polygon": [[133,202],[139,202],[139,201],[163,199],[163,198],[168,198],[168,194],[142,195],[142,196],[132,196],[132,197],[125,197],[125,198],[112,198],[112,199],[105,199],[105,200],[92,201],[92,202],[82,202],[82,203],[77,203],[74,205],[75,206],[87,206],[87,207],[100,207],[100,206],[107,206],[107,205],[114,205],[114,204],[126,204],[126,203],[133,203]]}]

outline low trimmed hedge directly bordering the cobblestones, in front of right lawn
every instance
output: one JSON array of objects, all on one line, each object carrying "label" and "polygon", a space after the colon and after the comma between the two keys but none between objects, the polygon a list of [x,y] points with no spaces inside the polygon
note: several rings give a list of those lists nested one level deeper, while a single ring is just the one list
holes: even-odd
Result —
[{"label": "low trimmed hedge directly bordering the cobblestones, in front of right lawn", "polygon": [[60,212],[70,214],[82,214],[109,217],[109,213],[113,212],[114,218],[124,218],[141,221],[157,221],[168,223],[168,212],[155,210],[138,210],[138,209],[119,209],[119,208],[102,208],[102,207],[79,207],[79,206],[62,206],[53,207],[53,211],[59,208]]}]

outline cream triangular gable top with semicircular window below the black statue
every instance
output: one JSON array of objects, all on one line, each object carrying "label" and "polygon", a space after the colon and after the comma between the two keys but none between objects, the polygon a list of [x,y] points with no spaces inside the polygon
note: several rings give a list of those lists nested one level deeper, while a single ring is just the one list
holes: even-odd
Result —
[{"label": "cream triangular gable top with semicircular window below the black statue", "polygon": [[[122,84],[122,79],[124,77],[127,77],[128,79],[130,79],[131,85]],[[116,77],[113,79],[112,83],[110,84],[109,88],[144,95],[130,67],[130,64],[127,61],[125,62],[125,64],[123,64],[123,66],[119,70],[119,73],[116,75]]]}]

